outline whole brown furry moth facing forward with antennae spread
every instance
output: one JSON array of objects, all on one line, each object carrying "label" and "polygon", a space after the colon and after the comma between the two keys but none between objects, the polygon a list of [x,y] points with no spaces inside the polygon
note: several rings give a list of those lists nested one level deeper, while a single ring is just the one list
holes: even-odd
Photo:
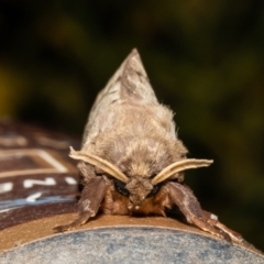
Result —
[{"label": "whole brown furry moth facing forward with antennae spread", "polygon": [[98,95],[85,129],[79,161],[84,189],[79,217],[55,228],[65,231],[86,223],[99,210],[107,215],[160,215],[173,207],[187,222],[229,241],[242,241],[234,231],[201,209],[183,184],[184,170],[212,161],[186,157],[175,133],[173,112],[157,102],[140,55],[133,50]]}]

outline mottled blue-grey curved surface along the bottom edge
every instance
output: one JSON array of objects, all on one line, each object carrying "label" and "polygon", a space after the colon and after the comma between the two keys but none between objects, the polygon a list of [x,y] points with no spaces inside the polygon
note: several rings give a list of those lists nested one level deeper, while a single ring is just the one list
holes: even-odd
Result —
[{"label": "mottled blue-grey curved surface along the bottom edge", "polygon": [[13,263],[242,263],[264,257],[226,241],[156,228],[101,228],[57,234],[0,255]]}]

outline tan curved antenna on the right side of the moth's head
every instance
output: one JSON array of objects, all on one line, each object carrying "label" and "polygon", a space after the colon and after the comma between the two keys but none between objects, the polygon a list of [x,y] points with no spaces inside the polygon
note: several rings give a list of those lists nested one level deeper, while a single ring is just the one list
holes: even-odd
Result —
[{"label": "tan curved antenna on the right side of the moth's head", "polygon": [[172,175],[183,172],[185,169],[189,168],[198,168],[198,167],[207,167],[209,166],[213,161],[209,160],[196,160],[196,158],[187,158],[184,161],[179,161],[176,163],[173,163],[165,167],[158,175],[156,175],[152,179],[153,185],[157,185],[165,179],[169,178]]}]

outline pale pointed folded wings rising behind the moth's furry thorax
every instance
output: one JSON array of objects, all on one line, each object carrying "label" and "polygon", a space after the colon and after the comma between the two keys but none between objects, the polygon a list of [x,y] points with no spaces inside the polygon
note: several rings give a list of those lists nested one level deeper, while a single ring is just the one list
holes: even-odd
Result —
[{"label": "pale pointed folded wings rising behind the moth's furry thorax", "polygon": [[98,94],[85,128],[82,145],[88,144],[101,131],[100,122],[111,122],[114,103],[158,103],[154,90],[134,48],[114,73],[107,86]]}]

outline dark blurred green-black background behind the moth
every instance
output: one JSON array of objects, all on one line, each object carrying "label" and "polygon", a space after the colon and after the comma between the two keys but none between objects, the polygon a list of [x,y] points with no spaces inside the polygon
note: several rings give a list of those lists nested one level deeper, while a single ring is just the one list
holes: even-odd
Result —
[{"label": "dark blurred green-black background behind the moth", "polygon": [[264,2],[1,0],[0,118],[81,139],[97,92],[138,47],[176,112],[204,209],[264,250]]}]

